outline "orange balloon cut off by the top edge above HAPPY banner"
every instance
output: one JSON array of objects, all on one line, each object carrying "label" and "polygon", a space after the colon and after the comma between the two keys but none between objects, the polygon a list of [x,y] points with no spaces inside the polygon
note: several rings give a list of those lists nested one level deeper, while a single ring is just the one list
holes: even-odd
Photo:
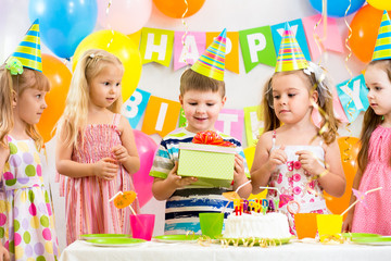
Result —
[{"label": "orange balloon cut off by the top edge above HAPPY banner", "polygon": [[188,8],[188,11],[184,17],[189,17],[202,8],[205,0],[187,0],[187,7],[184,0],[153,0],[153,2],[159,11],[165,15],[173,18],[181,18],[186,8]]}]

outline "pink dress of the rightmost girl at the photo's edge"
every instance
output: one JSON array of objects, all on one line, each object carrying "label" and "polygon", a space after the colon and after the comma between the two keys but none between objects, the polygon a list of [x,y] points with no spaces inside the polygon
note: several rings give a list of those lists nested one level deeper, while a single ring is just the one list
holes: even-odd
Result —
[{"label": "pink dress of the rightmost girl at the photo's edge", "polygon": [[355,206],[352,232],[391,235],[391,128],[378,126],[369,139],[368,165],[360,183],[360,191],[368,194],[365,203]]}]

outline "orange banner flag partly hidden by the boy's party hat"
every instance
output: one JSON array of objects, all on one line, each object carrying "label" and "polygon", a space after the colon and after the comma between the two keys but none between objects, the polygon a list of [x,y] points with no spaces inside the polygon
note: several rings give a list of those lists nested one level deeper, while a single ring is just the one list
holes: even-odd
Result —
[{"label": "orange banner flag partly hidden by the boy's party hat", "polygon": [[[206,46],[210,46],[219,32],[206,33]],[[226,70],[239,74],[239,33],[228,32],[226,42]]]}]

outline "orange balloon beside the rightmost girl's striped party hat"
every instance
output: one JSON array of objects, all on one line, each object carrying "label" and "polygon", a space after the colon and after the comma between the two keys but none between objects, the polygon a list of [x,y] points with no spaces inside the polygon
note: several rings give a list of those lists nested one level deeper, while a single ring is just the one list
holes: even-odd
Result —
[{"label": "orange balloon beside the rightmost girl's striped party hat", "polygon": [[367,4],[360,9],[351,22],[352,37],[349,45],[352,52],[362,61],[369,62],[375,50],[375,44],[383,11]]}]

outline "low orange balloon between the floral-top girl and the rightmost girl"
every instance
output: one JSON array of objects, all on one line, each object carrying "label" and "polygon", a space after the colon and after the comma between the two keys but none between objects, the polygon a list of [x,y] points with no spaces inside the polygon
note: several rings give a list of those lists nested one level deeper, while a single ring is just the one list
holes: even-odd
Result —
[{"label": "low orange balloon between the floral-top girl and the rightmost girl", "polygon": [[[360,151],[360,139],[355,137],[340,137],[338,145],[341,151],[343,172],[346,177],[345,192],[340,198],[324,192],[327,208],[333,214],[341,214],[348,209],[352,195],[352,186],[355,173],[357,172],[357,154]],[[343,216],[345,217],[346,214]]]}]

